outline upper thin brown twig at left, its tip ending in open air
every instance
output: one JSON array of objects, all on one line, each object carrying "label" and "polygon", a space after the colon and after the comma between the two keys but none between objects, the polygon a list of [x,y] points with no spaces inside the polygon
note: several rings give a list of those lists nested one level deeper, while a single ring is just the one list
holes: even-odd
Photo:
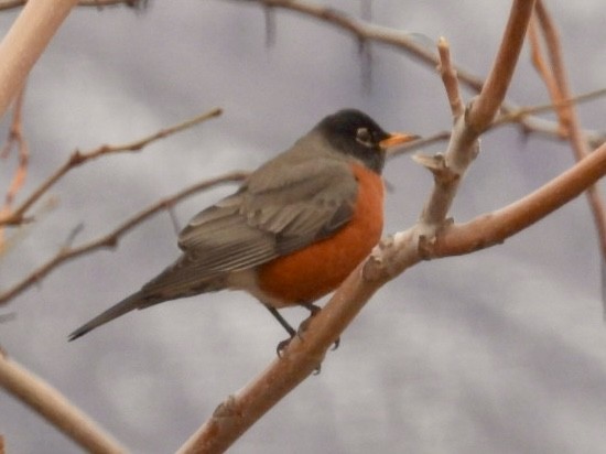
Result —
[{"label": "upper thin brown twig at left, its tip ending in open air", "polygon": [[178,125],[162,129],[158,132],[154,132],[151,136],[147,136],[142,139],[122,143],[119,145],[101,145],[95,150],[88,152],[80,152],[76,150],[69,159],[58,167],[52,175],[50,175],[46,181],[44,181],[18,208],[15,208],[8,216],[0,217],[0,226],[2,225],[19,225],[26,220],[25,215],[28,209],[44,195],[48,188],[51,188],[57,181],[59,181],[67,172],[72,169],[84,164],[85,162],[97,159],[106,154],[123,153],[123,152],[136,152],[140,151],[144,147],[149,145],[151,142],[166,138],[176,132],[181,132],[187,128],[199,125],[206,120],[218,117],[221,114],[221,109],[215,108],[205,114],[196,116],[190,120],[183,121]]}]

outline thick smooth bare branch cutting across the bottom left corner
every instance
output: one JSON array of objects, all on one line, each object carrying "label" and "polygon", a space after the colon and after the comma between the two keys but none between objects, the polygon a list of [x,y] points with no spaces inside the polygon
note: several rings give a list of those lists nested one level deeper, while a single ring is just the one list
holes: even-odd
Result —
[{"label": "thick smooth bare branch cutting across the bottom left corner", "polygon": [[0,353],[4,388],[89,453],[126,453],[117,441],[41,378]]}]

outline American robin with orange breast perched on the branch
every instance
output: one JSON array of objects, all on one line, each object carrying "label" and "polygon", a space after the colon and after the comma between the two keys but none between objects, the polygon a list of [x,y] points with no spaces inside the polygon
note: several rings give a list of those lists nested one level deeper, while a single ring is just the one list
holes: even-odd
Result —
[{"label": "American robin with orange breast perched on the branch", "polygon": [[69,335],[73,340],[134,309],[224,289],[278,313],[335,290],[379,241],[389,134],[359,110],[324,118],[257,169],[238,191],[198,213],[178,235],[181,257],[141,290]]}]

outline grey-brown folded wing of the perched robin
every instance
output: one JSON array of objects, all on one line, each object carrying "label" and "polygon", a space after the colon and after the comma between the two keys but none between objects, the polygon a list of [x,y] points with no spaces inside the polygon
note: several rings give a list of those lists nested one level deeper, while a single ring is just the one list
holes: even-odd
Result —
[{"label": "grey-brown folded wing of the perched robin", "polygon": [[181,259],[142,290],[171,299],[218,290],[227,272],[301,249],[351,218],[357,185],[346,162],[316,158],[284,167],[259,169],[236,194],[198,213],[178,236]]}]

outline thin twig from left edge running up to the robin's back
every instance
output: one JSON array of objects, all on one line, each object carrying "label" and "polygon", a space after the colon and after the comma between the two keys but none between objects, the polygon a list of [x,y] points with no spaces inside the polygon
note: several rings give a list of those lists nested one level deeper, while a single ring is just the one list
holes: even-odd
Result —
[{"label": "thin twig from left edge running up to the robin's back", "polygon": [[134,227],[139,226],[144,220],[149,219],[151,216],[180,203],[181,201],[201,191],[208,190],[221,183],[238,182],[244,180],[247,175],[247,172],[230,172],[221,176],[205,180],[185,190],[182,190],[170,197],[166,197],[160,202],[150,205],[145,209],[139,212],[137,215],[127,219],[123,224],[121,224],[107,235],[104,235],[97,239],[90,240],[77,247],[71,247],[69,245],[66,245],[64,248],[59,249],[55,257],[53,257],[51,260],[36,268],[28,277],[25,277],[22,281],[20,281],[9,290],[0,293],[0,305],[7,304],[10,300],[19,295],[21,292],[29,289],[36,282],[40,282],[41,279],[47,275],[59,264],[68,260],[73,260],[75,258],[90,253],[91,251],[97,249],[115,248],[118,245],[120,238],[122,238],[126,234],[131,231]]}]

